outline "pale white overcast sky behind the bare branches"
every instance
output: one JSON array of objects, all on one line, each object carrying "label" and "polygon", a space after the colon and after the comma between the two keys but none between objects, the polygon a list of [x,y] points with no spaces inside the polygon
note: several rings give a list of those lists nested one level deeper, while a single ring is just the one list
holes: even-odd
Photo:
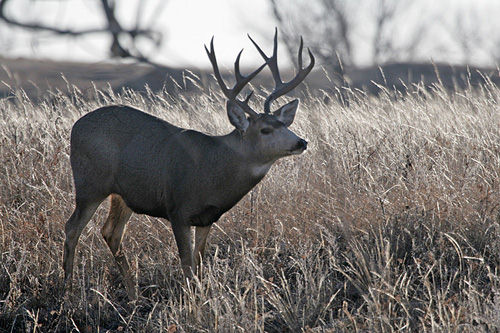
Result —
[{"label": "pale white overcast sky behind the bare branches", "polygon": [[[124,25],[135,22],[139,1],[146,2],[141,16],[144,22],[152,24],[163,34],[161,47],[152,48],[147,43],[141,45],[144,53],[152,55],[152,60],[157,63],[174,67],[208,68],[210,65],[203,45],[208,44],[212,36],[215,36],[215,49],[221,67],[231,67],[242,48],[245,48],[242,66],[260,64],[261,58],[248,40],[247,33],[265,50],[272,48],[276,23],[269,0],[117,0],[117,16]],[[373,34],[373,25],[367,22],[370,15],[373,18],[377,2],[360,1],[348,3],[363,3],[363,8],[352,8],[359,12],[358,21],[353,25],[352,39],[357,64],[366,65],[371,59],[369,40]],[[394,34],[397,43],[403,45],[406,30],[411,29],[412,24],[423,22],[429,35],[418,50],[417,58],[421,61],[463,62],[464,56],[453,40],[456,37],[452,36],[452,30],[456,30],[457,26],[470,34],[467,40],[479,41],[489,47],[497,43],[500,50],[500,0],[399,1],[407,1],[413,9],[390,33]],[[162,2],[166,3],[163,7],[158,5]],[[290,6],[297,2],[283,1]],[[8,14],[26,22],[84,28],[104,24],[99,6],[97,0],[11,0]],[[318,22],[311,24],[316,25]],[[0,23],[0,55],[3,56],[101,62],[108,58],[108,44],[109,40],[102,35],[61,39],[54,38],[50,33],[33,34]],[[307,46],[307,39],[305,44]],[[491,66],[493,63],[488,52],[489,49],[475,49],[468,61]],[[287,56],[280,56],[280,61],[287,62]]]}]

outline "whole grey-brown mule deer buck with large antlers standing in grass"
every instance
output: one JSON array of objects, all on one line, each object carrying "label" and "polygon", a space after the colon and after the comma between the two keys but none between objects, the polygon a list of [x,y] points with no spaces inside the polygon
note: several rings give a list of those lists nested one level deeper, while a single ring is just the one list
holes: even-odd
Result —
[{"label": "whole grey-brown mule deer buck with large antlers standing in grass", "polygon": [[[229,121],[235,127],[227,135],[209,136],[179,128],[121,105],[99,108],[74,124],[71,168],[76,208],[65,227],[66,285],[71,279],[78,238],[106,197],[111,196],[111,207],[102,235],[118,264],[129,298],[135,299],[135,283],[121,248],[132,212],[171,222],[182,269],[190,277],[200,264],[211,225],[259,183],[277,159],[306,149],[307,142],[288,129],[299,101],[295,99],[273,112],[271,104],[304,80],[314,66],[314,56],[308,50],[310,63],[303,68],[301,39],[299,71],[289,82],[283,82],[278,70],[277,33],[271,57],[249,36],[265,63],[244,76],[239,68],[240,52],[234,64],[236,84],[231,89],[220,74],[213,38],[210,50],[205,46],[214,76],[227,97]],[[266,65],[275,88],[265,100],[264,113],[257,113],[248,104],[252,93],[244,100],[237,96]]]}]

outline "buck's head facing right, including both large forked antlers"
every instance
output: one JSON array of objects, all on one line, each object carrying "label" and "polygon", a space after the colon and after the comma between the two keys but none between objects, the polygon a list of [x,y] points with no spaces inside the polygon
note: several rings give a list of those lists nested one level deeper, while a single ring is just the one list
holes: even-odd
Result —
[{"label": "buck's head facing right, including both large forked antlers", "polygon": [[[257,43],[255,43],[250,36],[248,37],[264,58],[265,63],[249,75],[244,76],[240,72],[239,63],[241,52],[243,50],[240,51],[234,63],[236,83],[231,89],[226,86],[219,72],[219,67],[215,57],[213,38],[210,42],[210,51],[205,46],[205,50],[207,51],[210,62],[212,63],[214,76],[219,83],[222,92],[228,99],[226,109],[229,121],[241,133],[243,139],[252,146],[252,150],[259,155],[262,161],[274,161],[280,157],[300,154],[307,148],[307,142],[304,139],[299,138],[288,128],[293,123],[295,118],[295,113],[299,107],[299,100],[294,99],[293,101],[279,107],[275,111],[271,111],[271,104],[277,98],[285,95],[297,87],[305,79],[314,66],[314,56],[308,49],[311,61],[306,68],[302,68],[303,41],[301,38],[298,52],[299,71],[293,79],[288,82],[283,82],[278,70],[278,30],[276,29],[274,34],[274,49],[271,57],[267,57]],[[267,96],[264,102],[264,112],[258,113],[248,105],[248,102],[252,97],[252,93],[250,93],[244,100],[239,100],[237,96],[245,85],[248,84],[265,66],[268,66],[271,70],[275,88],[273,92]]]}]

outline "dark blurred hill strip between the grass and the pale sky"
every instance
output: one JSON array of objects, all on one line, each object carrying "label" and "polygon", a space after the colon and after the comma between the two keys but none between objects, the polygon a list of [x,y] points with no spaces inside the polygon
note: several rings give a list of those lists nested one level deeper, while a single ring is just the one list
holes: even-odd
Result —
[{"label": "dark blurred hill strip between the grass and the pale sky", "polygon": [[[194,87],[192,82],[201,86],[212,82],[209,79],[211,71],[152,67],[137,63],[56,62],[0,57],[0,64],[0,82],[4,83],[0,86],[0,97],[9,96],[13,90],[21,88],[28,97],[39,99],[45,97],[50,90],[67,92],[71,85],[78,87],[85,94],[92,93],[94,86],[103,89],[108,84],[115,92],[122,88],[144,91],[145,85],[152,91],[165,89],[174,93],[181,89],[189,92]],[[327,73],[317,66],[306,83],[311,91],[322,90],[329,94],[335,93],[336,87],[341,86],[342,81],[351,89],[362,89],[374,94],[379,92],[380,86],[402,91],[412,84],[428,87],[438,82],[449,90],[463,89],[468,84],[477,85],[487,80],[496,85],[500,84],[497,69],[430,63],[348,67],[345,68],[344,78],[345,80],[342,80],[340,75]],[[256,77],[254,86],[268,86],[267,82],[270,80],[269,73],[264,71]]]}]

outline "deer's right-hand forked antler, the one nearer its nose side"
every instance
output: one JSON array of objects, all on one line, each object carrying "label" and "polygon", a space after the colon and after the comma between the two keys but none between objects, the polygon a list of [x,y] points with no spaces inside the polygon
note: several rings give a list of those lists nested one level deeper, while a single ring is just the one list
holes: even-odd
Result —
[{"label": "deer's right-hand forked antler, the one nearer its nose side", "polygon": [[298,64],[299,64],[299,72],[297,75],[291,79],[288,82],[283,82],[281,81],[281,76],[280,72],[278,69],[278,28],[276,28],[274,32],[274,48],[273,48],[273,55],[271,57],[268,57],[264,51],[257,45],[257,43],[248,35],[248,38],[252,41],[253,45],[257,48],[257,51],[259,51],[260,55],[264,60],[266,61],[266,64],[269,66],[269,69],[271,70],[271,73],[273,75],[273,79],[275,82],[275,88],[273,92],[267,96],[266,101],[264,102],[264,112],[265,113],[270,113],[271,112],[271,103],[276,100],[277,98],[283,96],[287,92],[291,91],[294,89],[296,86],[298,86],[309,74],[309,72],[312,70],[314,67],[314,56],[309,48],[307,48],[307,51],[309,52],[309,58],[311,59],[311,62],[306,68],[302,68],[302,48],[303,48],[303,40],[302,37],[300,37],[300,46],[299,46],[299,55],[298,55]]}]

